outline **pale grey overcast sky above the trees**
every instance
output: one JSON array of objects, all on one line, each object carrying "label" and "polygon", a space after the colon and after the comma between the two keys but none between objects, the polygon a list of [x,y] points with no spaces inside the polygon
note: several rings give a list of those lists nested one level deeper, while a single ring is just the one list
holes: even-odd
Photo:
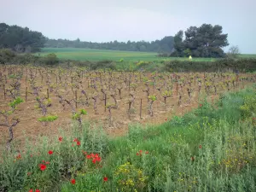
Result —
[{"label": "pale grey overcast sky above the trees", "polygon": [[1,0],[0,22],[91,42],[152,41],[207,23],[256,54],[255,8],[256,0]]}]

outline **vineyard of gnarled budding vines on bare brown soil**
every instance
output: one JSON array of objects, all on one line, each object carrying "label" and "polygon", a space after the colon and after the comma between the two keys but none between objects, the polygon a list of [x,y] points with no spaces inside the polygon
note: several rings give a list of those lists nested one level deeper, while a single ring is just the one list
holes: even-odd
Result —
[{"label": "vineyard of gnarled budding vines on bare brown soil", "polygon": [[[158,124],[219,94],[255,82],[255,74],[125,73],[86,68],[0,68],[1,146],[26,137],[52,136],[83,121],[102,125],[110,136],[128,124]],[[6,127],[6,128],[5,128]]]}]

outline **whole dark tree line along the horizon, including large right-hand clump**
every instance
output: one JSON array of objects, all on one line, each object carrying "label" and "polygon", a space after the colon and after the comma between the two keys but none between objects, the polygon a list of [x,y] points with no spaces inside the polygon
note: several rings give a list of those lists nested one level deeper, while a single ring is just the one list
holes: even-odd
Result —
[{"label": "whole dark tree line along the horizon, including large right-hand clump", "polygon": [[[183,37],[184,36],[184,37]],[[185,32],[179,31],[172,36],[166,36],[152,42],[118,42],[108,43],[83,42],[76,40],[50,39],[41,32],[29,28],[9,26],[0,23],[0,49],[13,49],[18,53],[38,52],[43,47],[48,48],[87,48],[112,49],[126,51],[157,52],[159,55],[187,57],[225,57],[223,48],[229,45],[228,34],[223,34],[222,26],[203,24],[199,27],[190,26]]]}]

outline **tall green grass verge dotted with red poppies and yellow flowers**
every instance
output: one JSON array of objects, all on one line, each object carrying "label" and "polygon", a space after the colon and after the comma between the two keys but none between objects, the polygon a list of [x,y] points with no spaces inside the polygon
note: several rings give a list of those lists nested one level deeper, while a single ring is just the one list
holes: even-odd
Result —
[{"label": "tall green grass verge dotted with red poppies and yellow flowers", "polygon": [[[61,142],[45,138],[3,158],[0,191],[256,191],[255,93],[226,94],[162,125],[131,125],[125,137],[84,125]],[[95,154],[102,159],[93,163]]]}]

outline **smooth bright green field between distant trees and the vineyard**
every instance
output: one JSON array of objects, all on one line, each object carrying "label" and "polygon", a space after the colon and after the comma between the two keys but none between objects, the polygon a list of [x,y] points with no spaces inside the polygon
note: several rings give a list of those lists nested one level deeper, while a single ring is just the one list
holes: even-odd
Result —
[{"label": "smooth bright green field between distant trees and the vineyard", "polygon": [[[186,61],[188,58],[163,58],[157,57],[157,53],[152,52],[135,52],[120,50],[103,50],[103,49],[79,49],[79,48],[44,48],[40,55],[55,53],[60,59],[69,59],[76,61],[102,61],[112,60],[120,61],[162,61],[162,60],[180,60]],[[38,55],[38,54],[37,54]],[[213,58],[194,58],[193,61],[215,61]]]}]

